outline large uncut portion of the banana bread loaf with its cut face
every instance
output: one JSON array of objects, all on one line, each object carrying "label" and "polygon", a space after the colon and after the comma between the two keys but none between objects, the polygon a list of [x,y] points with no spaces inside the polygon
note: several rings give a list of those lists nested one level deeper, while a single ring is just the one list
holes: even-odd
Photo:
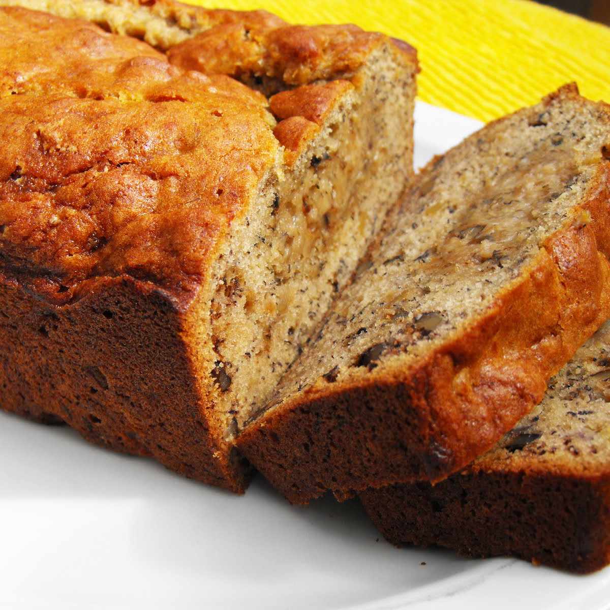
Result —
[{"label": "large uncut portion of the banana bread loaf with its cut face", "polygon": [[[23,4],[118,7],[129,33],[182,40],[193,32],[160,7],[207,24],[206,40],[253,19]],[[226,74],[203,74],[170,62],[189,48],[168,59],[89,21],[0,9],[2,408],[243,490],[235,434],[412,176],[413,49],[349,26],[300,32],[274,59],[298,77],[273,71],[268,99],[234,78],[245,51],[232,38],[207,56]],[[264,80],[259,59],[244,80]]]}]

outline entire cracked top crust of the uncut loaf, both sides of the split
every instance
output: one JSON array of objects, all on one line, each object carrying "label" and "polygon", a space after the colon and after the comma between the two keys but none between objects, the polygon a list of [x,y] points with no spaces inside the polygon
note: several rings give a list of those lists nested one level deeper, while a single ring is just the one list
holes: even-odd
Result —
[{"label": "entire cracked top crust of the uncut loaf, both sides of the split", "polygon": [[[61,0],[22,4],[68,10]],[[331,65],[334,72],[353,68],[372,42],[388,39],[351,26],[293,29],[264,12],[165,1],[85,0],[70,10],[88,16],[88,7],[121,8],[127,34],[162,16],[184,43],[168,58],[90,21],[0,8],[2,273],[56,304],[78,298],[95,278],[121,274],[190,295],[262,182],[295,161],[353,89],[345,81],[315,84],[270,104],[226,76],[237,76],[248,55],[227,32],[265,32],[275,59],[265,51],[256,61],[287,83],[331,76]],[[196,32],[203,33],[191,40]],[[307,36],[315,49],[303,42]],[[222,70],[223,49],[206,46],[213,37],[231,50],[223,59],[231,66]],[[269,106],[278,108],[279,123]]]}]

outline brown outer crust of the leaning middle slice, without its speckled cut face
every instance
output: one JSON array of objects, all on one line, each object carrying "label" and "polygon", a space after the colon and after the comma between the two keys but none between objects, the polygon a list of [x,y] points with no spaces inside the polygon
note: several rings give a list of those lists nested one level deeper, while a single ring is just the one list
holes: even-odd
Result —
[{"label": "brown outer crust of the leaning middle slice, without its speckled cut face", "polygon": [[610,315],[610,163],[588,193],[590,222],[552,235],[461,337],[415,369],[314,386],[246,428],[239,450],[295,504],[326,490],[440,481],[485,453]]}]

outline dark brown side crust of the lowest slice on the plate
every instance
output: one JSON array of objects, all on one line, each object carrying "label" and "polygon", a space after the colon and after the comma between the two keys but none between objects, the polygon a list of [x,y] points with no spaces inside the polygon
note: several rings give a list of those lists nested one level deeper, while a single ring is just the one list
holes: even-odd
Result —
[{"label": "dark brown side crust of the lowest slice on the plate", "polygon": [[610,476],[467,473],[359,498],[387,540],[589,573],[610,562]]}]

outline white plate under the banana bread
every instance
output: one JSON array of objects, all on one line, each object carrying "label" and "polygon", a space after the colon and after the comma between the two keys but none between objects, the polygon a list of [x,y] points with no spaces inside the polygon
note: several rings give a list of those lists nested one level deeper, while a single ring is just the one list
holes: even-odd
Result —
[{"label": "white plate under the banana bread", "polygon": [[[420,167],[479,123],[418,104]],[[0,608],[600,610],[610,570],[397,550],[359,504],[236,497],[0,414]],[[425,563],[425,565],[423,565]]]}]

